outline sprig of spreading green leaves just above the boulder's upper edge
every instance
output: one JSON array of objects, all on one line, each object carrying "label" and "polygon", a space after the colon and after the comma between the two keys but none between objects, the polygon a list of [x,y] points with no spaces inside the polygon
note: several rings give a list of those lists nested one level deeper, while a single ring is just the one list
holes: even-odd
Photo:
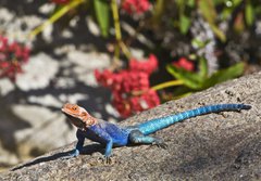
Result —
[{"label": "sprig of spreading green leaves just above the boulder's upper edge", "polygon": [[240,76],[244,72],[244,63],[237,63],[228,68],[220,69],[210,76],[208,76],[208,65],[206,59],[203,57],[199,59],[198,73],[177,68],[173,65],[167,65],[166,70],[176,79],[182,80],[184,86],[189,88],[191,91],[199,91]]}]

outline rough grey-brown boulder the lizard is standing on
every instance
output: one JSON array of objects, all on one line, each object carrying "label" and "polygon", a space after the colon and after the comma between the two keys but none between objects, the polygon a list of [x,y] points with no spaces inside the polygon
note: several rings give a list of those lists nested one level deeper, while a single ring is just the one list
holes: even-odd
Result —
[{"label": "rough grey-brown boulder the lizard is standing on", "polygon": [[[101,161],[103,148],[86,141],[80,156],[61,157],[74,146],[57,151],[2,172],[2,180],[260,180],[261,73],[227,81],[188,98],[167,102],[127,120],[140,122],[214,103],[247,103],[250,111],[199,116],[156,133],[166,150],[126,146],[113,150],[112,165]],[[58,140],[59,141],[59,140]]]}]

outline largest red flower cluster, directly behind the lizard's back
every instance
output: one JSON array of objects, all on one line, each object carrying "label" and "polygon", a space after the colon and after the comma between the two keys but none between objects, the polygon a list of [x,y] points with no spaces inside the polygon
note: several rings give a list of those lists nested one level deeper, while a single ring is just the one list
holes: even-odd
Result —
[{"label": "largest red flower cluster, directly behind the lizard's back", "polygon": [[112,90],[112,103],[123,117],[160,104],[160,99],[150,88],[149,76],[158,67],[154,55],[146,62],[129,61],[128,69],[112,73],[108,69],[95,72],[97,81]]}]

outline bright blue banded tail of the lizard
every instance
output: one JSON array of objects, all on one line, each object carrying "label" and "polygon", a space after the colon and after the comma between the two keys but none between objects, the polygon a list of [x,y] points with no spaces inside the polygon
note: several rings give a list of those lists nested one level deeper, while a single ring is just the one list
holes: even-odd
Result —
[{"label": "bright blue banded tail of the lizard", "polygon": [[225,112],[225,111],[240,111],[240,109],[250,109],[250,105],[246,104],[215,104],[215,105],[207,105],[201,106],[199,108],[186,111],[178,113],[176,115],[170,115],[166,117],[151,119],[147,122],[137,125],[136,127],[145,134],[150,134],[163,128],[166,128],[177,121],[182,121],[184,119],[188,119],[191,117],[210,114],[210,113],[217,113],[217,112]]}]

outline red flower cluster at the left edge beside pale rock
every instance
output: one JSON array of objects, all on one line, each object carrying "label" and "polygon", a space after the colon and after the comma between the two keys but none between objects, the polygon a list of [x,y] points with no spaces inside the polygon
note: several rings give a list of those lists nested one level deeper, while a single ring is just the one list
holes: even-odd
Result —
[{"label": "red flower cluster at the left edge beside pale rock", "polygon": [[9,43],[8,38],[0,36],[0,78],[8,77],[15,81],[15,76],[22,73],[22,64],[29,57],[29,49],[17,42]]}]

